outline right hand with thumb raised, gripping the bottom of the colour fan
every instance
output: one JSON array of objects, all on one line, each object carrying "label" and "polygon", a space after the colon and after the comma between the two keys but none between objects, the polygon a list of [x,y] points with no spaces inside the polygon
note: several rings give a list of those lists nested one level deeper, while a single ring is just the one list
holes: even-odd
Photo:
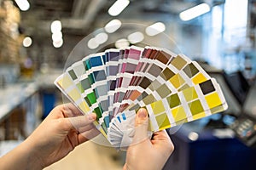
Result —
[{"label": "right hand with thumb raised, gripping the bottom of the colour fan", "polygon": [[135,121],[135,135],[126,153],[125,170],[160,170],[172,154],[174,146],[165,130],[148,139],[148,112],[140,109]]}]

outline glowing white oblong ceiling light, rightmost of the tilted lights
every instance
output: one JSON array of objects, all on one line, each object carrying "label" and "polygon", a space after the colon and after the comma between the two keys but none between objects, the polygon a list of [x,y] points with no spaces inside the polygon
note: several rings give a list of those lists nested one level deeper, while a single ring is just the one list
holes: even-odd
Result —
[{"label": "glowing white oblong ceiling light, rightmost of the tilted lights", "polygon": [[179,14],[181,20],[187,21],[192,20],[201,14],[206,14],[210,11],[210,6],[207,3],[201,3],[193,8],[189,8]]}]

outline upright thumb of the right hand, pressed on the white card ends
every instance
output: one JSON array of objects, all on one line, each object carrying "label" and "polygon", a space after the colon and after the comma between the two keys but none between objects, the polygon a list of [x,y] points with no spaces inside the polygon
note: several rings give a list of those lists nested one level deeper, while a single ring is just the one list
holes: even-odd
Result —
[{"label": "upright thumb of the right hand, pressed on the white card ends", "polygon": [[135,118],[135,133],[132,143],[137,144],[144,139],[148,139],[148,111],[141,108],[137,111]]}]

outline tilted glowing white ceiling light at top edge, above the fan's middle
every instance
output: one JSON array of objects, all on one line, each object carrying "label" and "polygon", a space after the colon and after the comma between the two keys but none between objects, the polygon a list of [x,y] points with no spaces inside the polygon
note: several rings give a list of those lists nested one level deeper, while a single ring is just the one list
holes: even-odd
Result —
[{"label": "tilted glowing white ceiling light at top edge, above the fan's middle", "polygon": [[117,0],[108,9],[108,14],[110,14],[111,16],[119,15],[129,5],[129,3],[129,0]]}]

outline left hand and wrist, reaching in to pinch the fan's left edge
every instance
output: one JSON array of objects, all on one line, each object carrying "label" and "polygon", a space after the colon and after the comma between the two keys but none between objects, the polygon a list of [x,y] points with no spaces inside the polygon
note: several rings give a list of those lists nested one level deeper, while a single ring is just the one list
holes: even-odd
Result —
[{"label": "left hand and wrist, reaching in to pinch the fan's left edge", "polygon": [[42,169],[61,160],[99,134],[95,120],[96,114],[83,116],[72,104],[55,107],[22,144],[0,159],[0,169]]}]

